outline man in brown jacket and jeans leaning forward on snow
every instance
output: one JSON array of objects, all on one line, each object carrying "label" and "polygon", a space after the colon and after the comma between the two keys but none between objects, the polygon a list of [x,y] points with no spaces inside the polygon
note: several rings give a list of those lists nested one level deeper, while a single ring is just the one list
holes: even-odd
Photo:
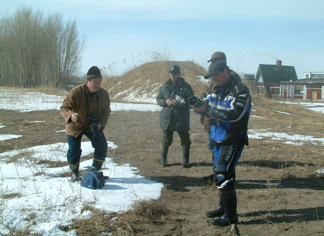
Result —
[{"label": "man in brown jacket and jeans leaning forward on snow", "polygon": [[69,146],[66,156],[72,172],[71,182],[79,180],[83,134],[95,149],[92,166],[99,170],[105,161],[107,141],[103,129],[111,110],[109,93],[101,88],[101,81],[99,68],[91,67],[86,74],[86,83],[71,89],[61,106],[61,114],[66,121],[65,132]]}]

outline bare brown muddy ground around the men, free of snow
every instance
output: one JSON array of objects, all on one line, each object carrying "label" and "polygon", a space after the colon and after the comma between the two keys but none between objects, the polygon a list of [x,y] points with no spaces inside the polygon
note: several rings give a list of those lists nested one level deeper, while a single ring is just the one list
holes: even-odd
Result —
[{"label": "bare brown muddy ground around the men, free of snow", "polygon": [[[297,113],[298,109],[291,111]],[[323,115],[305,111],[297,119],[296,114],[272,116],[274,113],[268,104],[255,103],[252,114],[264,118],[251,117],[249,129],[323,137]],[[66,142],[64,133],[55,132],[64,129],[59,111],[0,110],[0,114],[1,123],[6,124],[1,133],[23,135],[0,142],[0,152]],[[304,124],[308,114],[311,122]],[[137,225],[131,225],[132,230],[125,235],[324,235],[324,178],[314,174],[323,168],[323,144],[296,146],[269,138],[250,139],[237,166],[239,223],[230,232],[230,226],[213,226],[205,215],[205,211],[217,206],[218,190],[212,182],[202,179],[211,173],[212,164],[199,115],[192,113],[190,123],[191,168],[180,168],[182,147],[176,133],[168,155],[170,165],[160,168],[158,112],[111,114],[104,133],[119,147],[110,149],[107,156],[117,164],[130,163],[140,175],[163,183],[158,203],[169,209],[149,224],[130,222]]]}]

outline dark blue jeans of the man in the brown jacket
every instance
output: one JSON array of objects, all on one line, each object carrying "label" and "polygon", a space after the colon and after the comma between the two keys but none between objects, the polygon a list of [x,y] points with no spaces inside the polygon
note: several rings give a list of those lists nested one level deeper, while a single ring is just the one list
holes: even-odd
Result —
[{"label": "dark blue jeans of the man in the brown jacket", "polygon": [[102,130],[99,130],[101,133],[101,137],[98,141],[93,139],[93,132],[91,131],[82,131],[77,137],[66,135],[67,136],[67,143],[68,143],[68,151],[66,154],[67,161],[69,163],[75,163],[80,160],[80,156],[82,153],[81,149],[81,139],[82,135],[84,134],[90,141],[95,149],[94,156],[98,160],[104,160],[107,155],[107,141],[106,137],[103,134]]}]

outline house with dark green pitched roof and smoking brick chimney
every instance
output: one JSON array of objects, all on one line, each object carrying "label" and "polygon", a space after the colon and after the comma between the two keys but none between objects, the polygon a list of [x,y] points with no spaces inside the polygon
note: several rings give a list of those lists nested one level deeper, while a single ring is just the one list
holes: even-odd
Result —
[{"label": "house with dark green pitched roof and smoking brick chimney", "polygon": [[277,99],[280,96],[280,83],[286,81],[297,81],[295,67],[282,66],[281,61],[276,61],[276,65],[260,64],[255,78],[256,91]]}]

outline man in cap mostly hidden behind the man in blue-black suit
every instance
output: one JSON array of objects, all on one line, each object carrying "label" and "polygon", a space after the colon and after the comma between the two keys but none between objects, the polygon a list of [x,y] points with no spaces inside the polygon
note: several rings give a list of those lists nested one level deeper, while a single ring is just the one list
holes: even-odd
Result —
[{"label": "man in cap mostly hidden behind the man in blue-black suit", "polygon": [[[224,52],[214,52],[213,54],[211,54],[210,59],[207,62],[210,62],[211,64],[218,62],[218,61],[223,61],[225,62],[225,64],[227,63],[226,61],[226,55]],[[235,78],[236,81],[240,81],[241,82],[241,77],[240,75],[238,75],[238,73],[236,73],[233,70],[229,70],[229,73],[231,75],[233,75],[233,77]],[[215,84],[212,80],[210,81],[210,84],[205,92],[206,95],[211,94],[212,91],[214,90],[214,87],[217,84]],[[204,114],[201,115],[200,117],[200,122],[204,125],[204,131],[206,132],[206,137],[207,137],[207,148],[210,151],[211,154],[211,160],[214,163],[213,166],[215,166],[215,162],[217,163],[217,160],[214,160],[214,145],[210,136],[210,125],[208,124],[208,120],[209,118],[206,117]],[[208,176],[204,176],[203,179],[204,180],[212,180],[212,174],[208,175]]]}]

